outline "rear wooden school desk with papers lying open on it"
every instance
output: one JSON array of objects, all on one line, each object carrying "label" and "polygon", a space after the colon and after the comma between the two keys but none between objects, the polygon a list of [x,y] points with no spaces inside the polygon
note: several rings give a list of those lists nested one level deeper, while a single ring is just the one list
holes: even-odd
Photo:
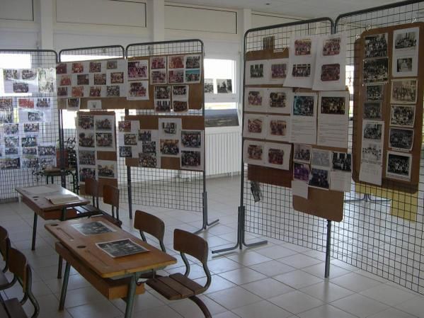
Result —
[{"label": "rear wooden school desk with papers lying open on it", "polygon": [[[49,192],[49,189],[51,191]],[[44,220],[66,220],[67,219],[67,208],[76,207],[79,205],[86,205],[90,203],[90,200],[83,198],[71,191],[62,188],[56,184],[49,184],[46,186],[30,186],[25,188],[16,188],[16,191],[22,195],[22,201],[29,208],[34,211],[34,222],[33,222],[33,242],[31,249],[35,250],[35,238],[37,236],[37,219],[38,215]],[[62,203],[53,204],[45,197],[49,195],[69,195],[73,194],[78,197],[78,200]],[[70,215],[71,216],[71,215]]]}]

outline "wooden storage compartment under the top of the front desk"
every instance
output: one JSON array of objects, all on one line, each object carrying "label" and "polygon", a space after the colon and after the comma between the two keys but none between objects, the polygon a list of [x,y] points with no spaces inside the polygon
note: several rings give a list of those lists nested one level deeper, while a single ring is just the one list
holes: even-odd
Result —
[{"label": "wooden storage compartment under the top of the front desk", "polygon": [[[91,283],[91,285],[93,285],[103,296],[108,298],[108,300],[127,297],[130,278],[102,278],[81,263],[81,261],[73,256],[61,243],[56,242],[55,249],[65,261],[75,268],[81,276],[88,280],[88,282]],[[137,285],[135,293],[136,295],[144,293],[144,284]]]}]

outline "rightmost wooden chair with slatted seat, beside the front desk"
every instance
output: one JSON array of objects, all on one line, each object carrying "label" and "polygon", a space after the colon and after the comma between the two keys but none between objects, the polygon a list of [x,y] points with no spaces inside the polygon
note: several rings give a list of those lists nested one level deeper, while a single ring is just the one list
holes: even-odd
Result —
[{"label": "rightmost wooden chair with slatted seat, beside the front desk", "polygon": [[[207,242],[196,234],[183,231],[182,229],[176,229],[173,232],[173,249],[181,253],[181,258],[185,263],[185,273],[175,273],[166,277],[151,278],[147,280],[147,285],[168,300],[182,300],[188,298],[199,306],[206,318],[212,317],[205,303],[197,297],[197,295],[204,293],[205,290],[209,288],[212,281],[209,268],[207,268]],[[202,262],[207,277],[204,286],[188,278],[190,274],[190,263],[188,263],[185,254],[193,256]]]}]

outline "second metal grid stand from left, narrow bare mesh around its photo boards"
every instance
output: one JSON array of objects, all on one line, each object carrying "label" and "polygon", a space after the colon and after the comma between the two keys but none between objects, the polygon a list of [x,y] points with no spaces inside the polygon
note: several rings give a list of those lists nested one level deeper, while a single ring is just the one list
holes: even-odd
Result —
[{"label": "second metal grid stand from left, narrow bare mesh around its photo boards", "polygon": [[[75,49],[67,49],[59,52],[60,62],[71,62],[78,60],[90,59],[122,59],[125,57],[125,49],[121,45],[111,45],[105,47],[81,47]],[[117,109],[115,111],[116,120],[121,120],[125,116],[125,110]],[[62,115],[65,120],[74,121],[75,112],[67,112],[62,110]],[[66,125],[65,125],[66,126]],[[76,138],[76,127],[63,130],[64,142],[68,139]],[[118,124],[117,124],[118,126]],[[120,188],[120,201],[127,202],[127,166],[125,160],[118,156],[118,187]],[[67,185],[71,182],[71,176],[67,176]]]}]

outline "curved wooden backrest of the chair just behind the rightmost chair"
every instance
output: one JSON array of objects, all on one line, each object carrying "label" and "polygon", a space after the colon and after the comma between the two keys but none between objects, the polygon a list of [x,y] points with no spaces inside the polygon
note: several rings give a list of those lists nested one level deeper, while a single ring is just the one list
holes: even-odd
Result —
[{"label": "curved wooden backrest of the chair just behind the rightmost chair", "polygon": [[137,210],[134,216],[134,228],[138,229],[144,242],[147,242],[144,232],[156,237],[161,245],[162,251],[166,252],[164,245],[165,223],[159,217],[147,212]]}]

